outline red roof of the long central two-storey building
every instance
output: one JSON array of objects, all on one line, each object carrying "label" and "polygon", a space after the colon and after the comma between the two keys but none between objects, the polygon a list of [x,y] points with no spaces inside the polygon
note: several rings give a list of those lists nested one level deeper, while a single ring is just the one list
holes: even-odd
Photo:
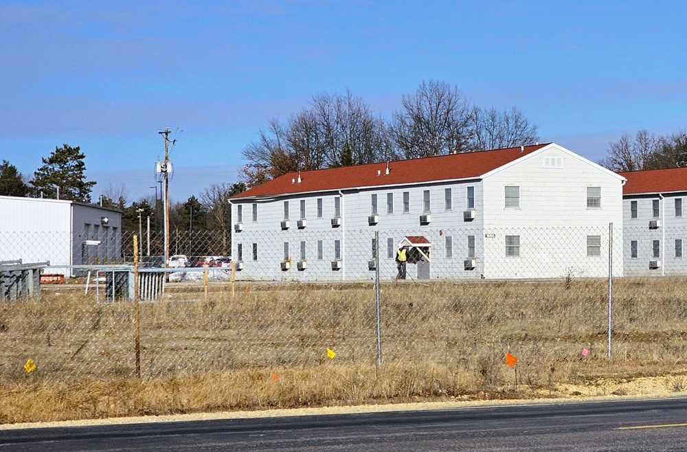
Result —
[{"label": "red roof of the long central two-storey building", "polygon": [[524,150],[518,146],[517,148],[464,152],[422,159],[397,160],[390,162],[389,174],[385,174],[387,165],[385,162],[302,171],[300,183],[297,181],[298,173],[289,172],[277,179],[237,194],[233,196],[233,199],[248,196],[274,196],[379,185],[469,179],[480,177],[482,174],[504,166],[506,163],[528,155],[544,146],[547,144],[525,146]]}]

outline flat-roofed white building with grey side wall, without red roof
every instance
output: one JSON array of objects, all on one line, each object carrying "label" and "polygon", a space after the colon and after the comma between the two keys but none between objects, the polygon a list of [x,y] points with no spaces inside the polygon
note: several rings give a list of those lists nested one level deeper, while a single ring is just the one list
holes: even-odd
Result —
[{"label": "flat-roofed white building with grey side wall, without red roof", "polygon": [[[57,199],[0,196],[0,261],[50,262],[50,272],[122,258],[122,212]],[[65,266],[65,267],[60,267]]]}]

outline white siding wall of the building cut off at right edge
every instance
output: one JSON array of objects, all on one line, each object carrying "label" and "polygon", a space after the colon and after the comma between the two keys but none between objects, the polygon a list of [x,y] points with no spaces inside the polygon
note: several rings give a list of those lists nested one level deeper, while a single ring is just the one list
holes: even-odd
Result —
[{"label": "white siding wall of the building cut off at right edge", "polygon": [[[624,274],[637,275],[684,275],[687,273],[686,257],[675,257],[675,239],[682,239],[682,253],[687,251],[687,193],[642,194],[625,196],[623,214],[623,262]],[[682,216],[675,215],[675,199],[682,199]],[[631,202],[637,201],[637,218],[631,218]],[[659,215],[653,215],[653,201],[659,201]],[[650,221],[660,221],[660,227],[649,228]],[[637,258],[631,257],[631,242],[637,241]],[[660,258],[653,255],[653,240],[660,240]],[[649,268],[649,261],[660,260],[657,269]]]}]

